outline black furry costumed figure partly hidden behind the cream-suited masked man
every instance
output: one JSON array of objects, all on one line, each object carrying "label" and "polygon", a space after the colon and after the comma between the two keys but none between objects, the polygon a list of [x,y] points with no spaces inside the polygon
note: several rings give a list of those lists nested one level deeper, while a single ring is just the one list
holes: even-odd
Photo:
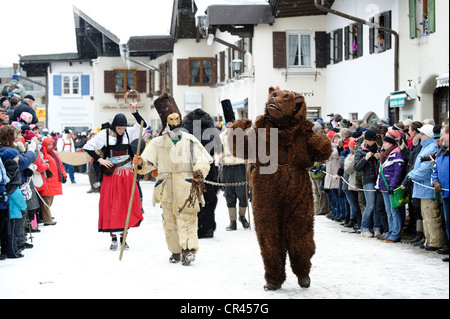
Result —
[{"label": "black furry costumed figure partly hidden behind the cream-suited masked man", "polygon": [[[199,132],[194,132],[194,121],[200,121],[201,130]],[[196,109],[187,114],[183,119],[182,127],[190,134],[195,135],[204,147],[208,145],[212,146],[210,143],[215,138],[214,135],[204,135],[206,129],[216,130],[217,135],[219,134],[219,131],[214,127],[214,121],[211,116],[201,109]],[[197,134],[201,134],[201,136],[197,136]],[[209,154],[214,157],[213,147],[211,147]],[[206,180],[217,182],[217,174],[218,169],[215,163],[212,163]],[[217,186],[206,184],[206,191],[203,193],[205,206],[200,207],[200,212],[198,213],[198,238],[213,237],[214,231],[216,230],[215,210],[217,206],[217,191]]]}]

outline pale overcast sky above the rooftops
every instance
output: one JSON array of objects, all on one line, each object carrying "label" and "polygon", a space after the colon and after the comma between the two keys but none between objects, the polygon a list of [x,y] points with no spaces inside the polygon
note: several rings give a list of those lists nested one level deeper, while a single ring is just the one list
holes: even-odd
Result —
[{"label": "pale overcast sky above the rooftops", "polygon": [[[168,35],[173,0],[2,0],[0,67],[12,67],[20,55],[75,53],[73,6],[126,43],[130,36]],[[196,0],[210,4],[253,4],[267,0]],[[8,7],[10,7],[8,9]]]}]

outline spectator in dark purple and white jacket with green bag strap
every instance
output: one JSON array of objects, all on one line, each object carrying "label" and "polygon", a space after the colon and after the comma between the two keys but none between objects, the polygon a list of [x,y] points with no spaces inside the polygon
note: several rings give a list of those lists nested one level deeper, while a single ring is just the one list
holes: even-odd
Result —
[{"label": "spectator in dark purple and white jacket with green bag strap", "polygon": [[380,174],[378,189],[381,191],[386,208],[389,231],[381,239],[386,242],[399,242],[403,226],[403,216],[400,209],[393,208],[390,194],[400,185],[405,164],[400,148],[395,140],[396,132],[388,131],[380,151]]}]

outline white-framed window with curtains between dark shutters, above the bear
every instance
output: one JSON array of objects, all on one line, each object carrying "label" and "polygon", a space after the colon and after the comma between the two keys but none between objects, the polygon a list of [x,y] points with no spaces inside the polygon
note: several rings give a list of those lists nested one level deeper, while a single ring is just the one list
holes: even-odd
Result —
[{"label": "white-framed window with curtains between dark shutters, above the bear", "polygon": [[289,67],[311,68],[312,45],[310,33],[288,35]]}]

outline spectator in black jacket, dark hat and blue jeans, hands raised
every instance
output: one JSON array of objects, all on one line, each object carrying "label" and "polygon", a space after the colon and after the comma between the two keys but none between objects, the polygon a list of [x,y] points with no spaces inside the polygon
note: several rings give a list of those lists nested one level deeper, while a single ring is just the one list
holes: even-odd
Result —
[{"label": "spectator in black jacket, dark hat and blue jeans, hands raised", "polygon": [[362,172],[362,183],[364,189],[364,197],[366,199],[366,207],[364,209],[361,220],[361,236],[373,237],[369,228],[373,221],[373,230],[375,236],[381,235],[381,222],[376,213],[377,193],[375,192],[375,183],[378,176],[378,152],[377,134],[372,130],[364,133],[364,143],[355,153],[355,170]]}]

